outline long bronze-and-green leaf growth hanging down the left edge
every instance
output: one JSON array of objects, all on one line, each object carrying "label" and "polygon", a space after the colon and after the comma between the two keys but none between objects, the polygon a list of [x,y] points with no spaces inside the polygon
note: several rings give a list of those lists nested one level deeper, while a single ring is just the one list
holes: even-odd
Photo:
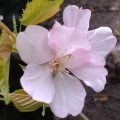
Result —
[{"label": "long bronze-and-green leaf growth hanging down the left edge", "polygon": [[8,80],[12,44],[11,37],[5,31],[2,31],[0,38],[0,91],[3,95],[5,104],[9,104],[10,102]]}]

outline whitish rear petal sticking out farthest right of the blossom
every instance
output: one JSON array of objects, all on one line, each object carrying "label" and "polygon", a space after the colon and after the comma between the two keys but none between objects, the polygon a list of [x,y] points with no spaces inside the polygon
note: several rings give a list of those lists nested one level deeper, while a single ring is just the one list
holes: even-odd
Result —
[{"label": "whitish rear petal sticking out farthest right of the blossom", "polygon": [[92,45],[92,51],[105,57],[117,42],[112,31],[108,27],[100,27],[98,29],[88,31],[88,39]]}]

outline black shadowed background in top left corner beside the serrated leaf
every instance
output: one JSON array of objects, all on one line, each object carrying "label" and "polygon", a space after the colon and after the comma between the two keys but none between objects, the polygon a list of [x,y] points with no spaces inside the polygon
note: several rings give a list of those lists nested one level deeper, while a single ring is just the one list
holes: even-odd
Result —
[{"label": "black shadowed background in top left corner beside the serrated leaf", "polygon": [[28,0],[0,0],[0,15],[4,17],[3,22],[12,30],[12,18],[13,14],[17,20],[17,25],[19,27],[19,17],[21,16],[22,9]]}]

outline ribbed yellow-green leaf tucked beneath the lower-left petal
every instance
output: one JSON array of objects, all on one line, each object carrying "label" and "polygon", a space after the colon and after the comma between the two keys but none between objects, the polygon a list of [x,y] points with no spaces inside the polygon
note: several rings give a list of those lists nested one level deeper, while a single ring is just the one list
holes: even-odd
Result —
[{"label": "ribbed yellow-green leaf tucked beneath the lower-left petal", "polygon": [[18,108],[21,112],[34,111],[44,104],[33,100],[32,97],[30,97],[23,89],[16,90],[11,93],[10,98],[16,108]]}]

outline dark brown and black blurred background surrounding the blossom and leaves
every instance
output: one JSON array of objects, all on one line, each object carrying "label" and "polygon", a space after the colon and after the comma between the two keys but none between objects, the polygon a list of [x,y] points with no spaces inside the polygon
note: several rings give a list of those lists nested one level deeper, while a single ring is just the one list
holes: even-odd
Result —
[{"label": "dark brown and black blurred background surrounding the blossom and leaves", "polygon": [[[3,22],[11,30],[13,29],[13,14],[18,22],[26,2],[27,0],[0,0],[0,15],[4,16]],[[91,88],[85,86],[87,97],[83,113],[90,120],[120,120],[120,43],[119,36],[115,33],[115,30],[120,28],[120,0],[65,0],[61,6],[61,11],[42,25],[50,29],[55,20],[63,23],[62,12],[69,4],[82,6],[92,11],[90,29],[108,26],[112,28],[118,39],[117,46],[106,57],[106,68],[109,75],[107,76],[105,89],[100,93],[95,93]],[[12,54],[10,67],[11,92],[21,88],[19,78],[23,73],[18,66],[18,62],[21,62],[18,56]],[[5,106],[3,102],[0,102],[0,120],[52,120],[52,117],[49,109],[46,111],[46,116],[42,117],[41,109],[30,113],[21,113],[12,103]],[[64,120],[79,120],[79,118],[69,116]]]}]

